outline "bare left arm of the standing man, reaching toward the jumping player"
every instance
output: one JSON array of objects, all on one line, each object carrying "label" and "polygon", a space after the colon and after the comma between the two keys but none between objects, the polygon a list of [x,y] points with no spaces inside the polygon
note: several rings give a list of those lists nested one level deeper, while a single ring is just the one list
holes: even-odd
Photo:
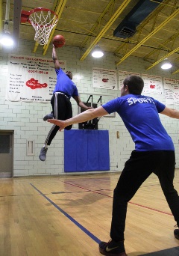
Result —
[{"label": "bare left arm of the standing man, reaching toward the jumping player", "polygon": [[76,115],[73,118],[67,119],[66,121],[61,121],[57,119],[48,119],[48,122],[51,124],[55,124],[60,127],[60,131],[65,127],[68,127],[71,124],[84,123],[86,121],[92,120],[94,118],[99,118],[104,115],[107,115],[107,111],[102,107],[98,107],[96,109],[88,109],[85,112],[82,112],[79,115]]}]

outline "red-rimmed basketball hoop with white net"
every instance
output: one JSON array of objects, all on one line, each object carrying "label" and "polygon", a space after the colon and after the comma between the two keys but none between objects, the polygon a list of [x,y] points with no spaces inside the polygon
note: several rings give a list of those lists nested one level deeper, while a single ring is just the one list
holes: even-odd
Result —
[{"label": "red-rimmed basketball hoop with white net", "polygon": [[51,30],[57,24],[58,17],[53,10],[35,8],[34,10],[21,12],[21,22],[29,22],[35,29],[34,40],[40,45],[48,43]]}]

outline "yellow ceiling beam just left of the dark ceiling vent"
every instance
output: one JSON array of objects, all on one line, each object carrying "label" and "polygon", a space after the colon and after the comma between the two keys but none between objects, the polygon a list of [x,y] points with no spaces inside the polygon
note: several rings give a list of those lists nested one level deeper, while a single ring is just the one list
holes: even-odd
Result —
[{"label": "yellow ceiling beam just left of the dark ceiling vent", "polygon": [[98,41],[101,39],[101,37],[106,33],[106,31],[110,28],[110,26],[113,24],[113,22],[118,18],[119,14],[122,13],[122,10],[125,10],[125,7],[128,5],[128,3],[131,0],[125,0],[121,4],[121,6],[116,10],[116,13],[113,14],[113,16],[110,18],[110,20],[107,22],[107,24],[104,26],[104,28],[101,30],[101,32],[95,37],[95,40],[90,44],[89,48],[87,49],[86,52],[84,52],[84,55],[81,57],[81,61],[84,61],[84,58],[89,55],[91,52],[92,48],[98,43]]}]

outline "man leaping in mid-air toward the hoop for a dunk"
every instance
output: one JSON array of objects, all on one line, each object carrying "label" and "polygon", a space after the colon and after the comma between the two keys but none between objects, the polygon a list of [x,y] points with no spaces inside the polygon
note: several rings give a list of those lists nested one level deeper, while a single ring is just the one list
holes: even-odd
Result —
[{"label": "man leaping in mid-air toward the hoop for a dunk", "polygon": [[[52,49],[52,59],[54,61],[54,69],[57,74],[57,83],[54,87],[53,96],[51,97],[51,106],[52,112],[51,114],[45,115],[43,121],[47,121],[47,119],[56,118],[60,120],[66,120],[72,118],[72,104],[70,102],[70,98],[73,97],[81,107],[81,109],[87,110],[91,109],[91,107],[87,107],[80,99],[78,94],[78,89],[74,82],[72,82],[72,72],[63,70],[60,68],[60,63],[57,60],[57,53],[55,47],[53,45]],[[72,125],[66,127],[66,129],[71,129]],[[53,125],[50,131],[48,132],[47,138],[45,139],[45,143],[40,150],[39,158],[41,161],[45,161],[46,153],[48,150],[48,146],[51,144],[52,139],[56,135],[59,127]]]}]

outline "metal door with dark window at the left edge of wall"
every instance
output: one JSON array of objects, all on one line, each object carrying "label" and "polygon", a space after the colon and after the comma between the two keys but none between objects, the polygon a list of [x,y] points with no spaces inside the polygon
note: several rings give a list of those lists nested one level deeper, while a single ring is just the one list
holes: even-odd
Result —
[{"label": "metal door with dark window at the left edge of wall", "polygon": [[13,132],[0,131],[0,177],[13,177]]}]

